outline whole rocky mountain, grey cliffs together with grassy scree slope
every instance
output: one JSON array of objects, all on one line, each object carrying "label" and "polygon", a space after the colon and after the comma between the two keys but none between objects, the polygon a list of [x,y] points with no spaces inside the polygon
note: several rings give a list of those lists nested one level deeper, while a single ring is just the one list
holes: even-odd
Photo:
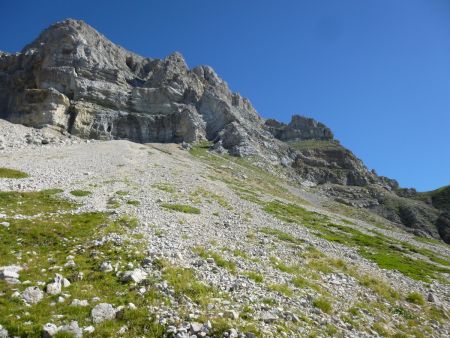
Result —
[{"label": "whole rocky mountain, grey cliffs together with grassy scree slope", "polygon": [[0,53],[0,338],[447,337],[449,193],[58,22]]}]

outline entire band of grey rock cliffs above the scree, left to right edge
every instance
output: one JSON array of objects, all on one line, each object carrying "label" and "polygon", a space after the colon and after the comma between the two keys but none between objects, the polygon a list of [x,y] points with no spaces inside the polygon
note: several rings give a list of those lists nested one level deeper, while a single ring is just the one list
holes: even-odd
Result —
[{"label": "entire band of grey rock cliffs above the scree, left to right edge", "polygon": [[320,122],[262,119],[208,66],[179,53],[144,58],[82,21],[46,29],[21,53],[0,53],[0,118],[82,138],[135,142],[209,140],[218,152],[282,164],[297,181],[448,241],[448,212],[405,196],[369,171]]}]

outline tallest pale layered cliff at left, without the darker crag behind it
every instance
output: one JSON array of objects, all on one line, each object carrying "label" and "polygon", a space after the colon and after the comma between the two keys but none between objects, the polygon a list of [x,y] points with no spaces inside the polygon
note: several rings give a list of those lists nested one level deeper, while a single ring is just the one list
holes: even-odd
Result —
[{"label": "tallest pale layered cliff at left, without the darker crag behind it", "polygon": [[[1,54],[0,89],[3,118],[84,138],[194,142],[238,128],[271,138],[250,102],[210,67],[189,69],[179,53],[143,58],[82,21],[56,23],[21,53]],[[234,137],[224,146],[258,149],[248,142]]]}]

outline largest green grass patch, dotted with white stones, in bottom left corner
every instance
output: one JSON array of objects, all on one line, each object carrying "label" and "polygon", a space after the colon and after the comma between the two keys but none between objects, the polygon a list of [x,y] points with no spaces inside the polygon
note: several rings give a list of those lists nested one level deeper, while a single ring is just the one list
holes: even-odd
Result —
[{"label": "largest green grass patch, dotted with white stones, in bottom left corner", "polygon": [[[100,262],[105,260],[122,266],[125,263],[137,266],[145,257],[139,245],[133,244],[130,247],[126,241],[121,246],[111,242],[95,246],[91,244],[93,239],[103,236],[111,229],[118,231],[120,227],[127,227],[129,220],[111,222],[109,215],[101,212],[64,213],[76,205],[58,198],[57,192],[1,193],[4,202],[1,204],[2,210],[6,211],[6,220],[10,226],[0,227],[0,266],[24,266],[20,279],[30,281],[31,285],[50,280],[56,272],[61,273],[72,282],[71,286],[64,289],[64,292],[70,293],[71,298],[58,303],[58,296],[46,295],[39,304],[26,307],[23,302],[12,298],[11,294],[16,289],[23,291],[28,285],[9,285],[0,281],[0,293],[4,294],[0,297],[0,324],[10,335],[20,337],[41,337],[42,326],[47,322],[61,325],[76,320],[80,326],[91,325],[89,316],[92,305],[84,308],[69,304],[74,298],[91,300],[97,296],[115,306],[132,302],[138,308],[125,309],[120,319],[96,325],[95,337],[117,336],[117,331],[123,325],[129,326],[129,336],[162,336],[164,328],[156,324],[154,315],[147,310],[148,306],[164,301],[151,281],[147,293],[140,295],[136,290],[130,289],[129,285],[122,283],[115,274],[98,270]],[[47,214],[57,211],[60,213]],[[14,218],[18,213],[35,217]],[[74,256],[75,267],[64,267],[69,255]],[[51,270],[54,266],[62,267],[62,271]],[[83,279],[77,277],[80,273],[84,274]],[[53,302],[56,305],[52,305]],[[63,319],[58,319],[55,315],[62,315]]]}]

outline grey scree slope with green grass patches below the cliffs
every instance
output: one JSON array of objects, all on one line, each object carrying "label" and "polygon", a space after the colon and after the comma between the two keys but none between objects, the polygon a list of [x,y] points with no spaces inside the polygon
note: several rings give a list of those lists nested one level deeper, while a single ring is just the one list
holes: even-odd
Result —
[{"label": "grey scree slope with green grass patches below the cliffs", "polygon": [[0,337],[450,334],[448,245],[285,182],[0,120]]}]

